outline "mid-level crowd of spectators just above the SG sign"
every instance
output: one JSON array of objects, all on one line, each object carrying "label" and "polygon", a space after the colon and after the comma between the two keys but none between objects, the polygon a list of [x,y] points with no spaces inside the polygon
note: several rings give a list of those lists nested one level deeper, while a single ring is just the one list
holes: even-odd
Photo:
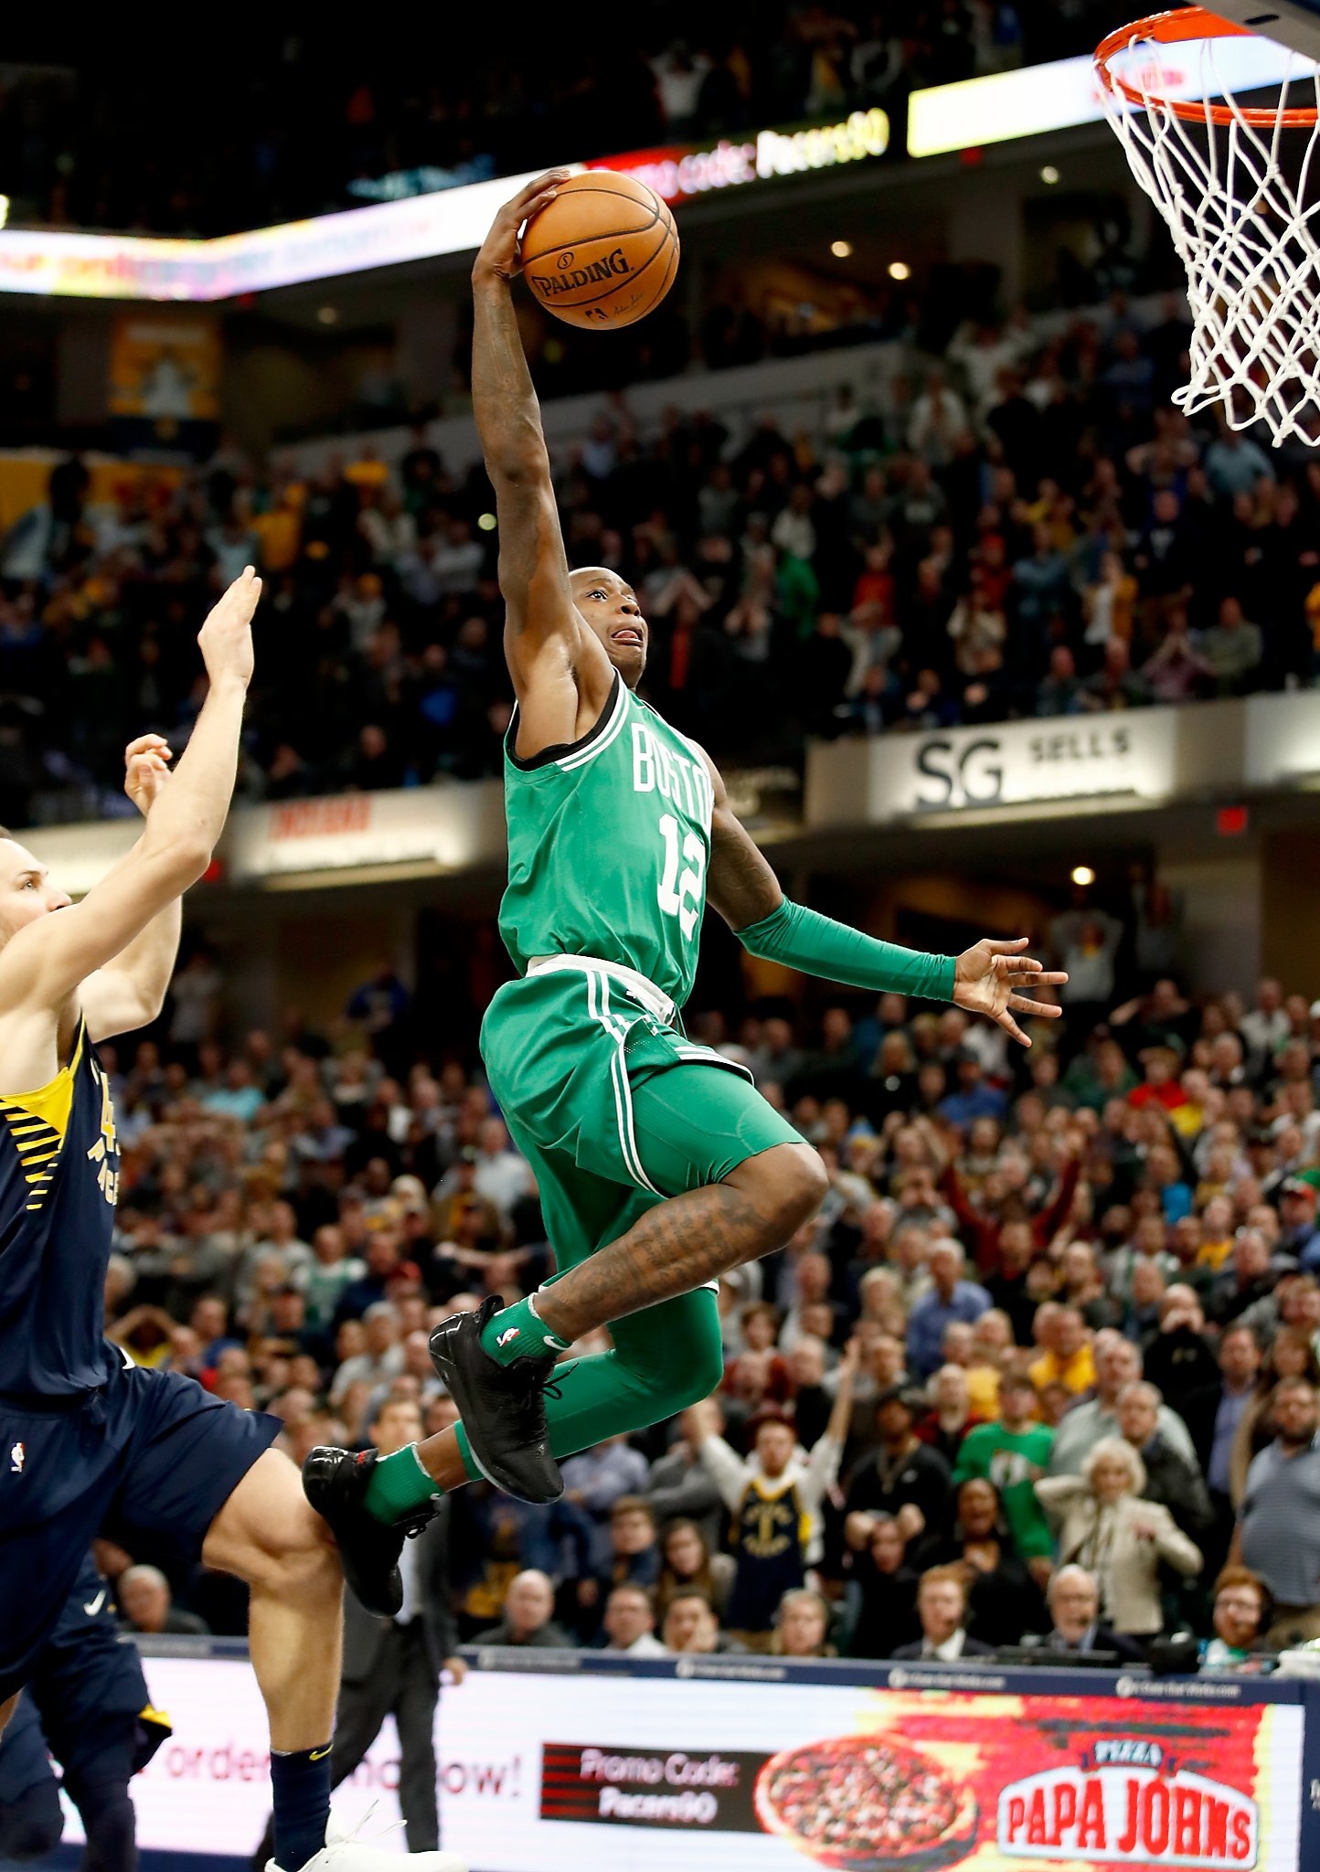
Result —
[{"label": "mid-level crowd of spectators just above the SG sign", "polygon": [[[814,431],[642,431],[612,399],[556,453],[569,558],[633,580],[646,695],[717,758],[1311,685],[1320,462],[1170,408],[1187,337],[1122,292],[1052,333],[966,324]],[[112,811],[129,734],[185,743],[197,623],[249,560],[242,796],[498,773],[492,509],[421,429],[397,466],[223,455],[101,504],[69,459],[0,550],[0,814]]]}]

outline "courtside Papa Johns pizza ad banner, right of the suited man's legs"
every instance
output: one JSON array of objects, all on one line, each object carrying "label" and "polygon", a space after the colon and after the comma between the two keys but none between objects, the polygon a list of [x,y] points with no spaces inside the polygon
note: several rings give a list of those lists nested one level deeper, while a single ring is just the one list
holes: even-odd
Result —
[{"label": "courtside Papa Johns pizza ad banner, right of the suited man's legs", "polygon": [[627,1872],[801,1872],[803,1855],[829,1872],[1296,1872],[1303,1709],[1138,1690],[474,1672],[447,1720],[485,1788],[446,1793],[444,1844],[485,1872],[580,1872],[601,1855]]}]

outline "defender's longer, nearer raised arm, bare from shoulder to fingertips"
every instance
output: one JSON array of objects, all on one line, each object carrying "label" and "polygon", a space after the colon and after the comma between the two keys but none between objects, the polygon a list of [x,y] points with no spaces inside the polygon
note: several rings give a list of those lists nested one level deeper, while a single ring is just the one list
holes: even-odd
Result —
[{"label": "defender's longer, nearer raised arm, bare from shoulder to fingertips", "polygon": [[[0,951],[0,1018],[15,1009],[62,1007],[84,977],[122,955],[210,865],[234,792],[258,597],[260,578],[249,565],[202,625],[210,691],[139,842],[81,904],[24,925]],[[41,878],[32,876],[39,887]]]}]

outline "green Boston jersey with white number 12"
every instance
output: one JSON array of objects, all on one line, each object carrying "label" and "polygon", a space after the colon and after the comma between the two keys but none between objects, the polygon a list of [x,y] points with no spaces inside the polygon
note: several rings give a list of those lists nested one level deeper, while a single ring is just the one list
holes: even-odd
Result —
[{"label": "green Boston jersey with white number 12", "polygon": [[521,975],[539,955],[592,955],[680,1007],[706,908],[713,788],[697,747],[614,676],[588,736],[519,760],[504,743],[509,887],[500,934]]}]

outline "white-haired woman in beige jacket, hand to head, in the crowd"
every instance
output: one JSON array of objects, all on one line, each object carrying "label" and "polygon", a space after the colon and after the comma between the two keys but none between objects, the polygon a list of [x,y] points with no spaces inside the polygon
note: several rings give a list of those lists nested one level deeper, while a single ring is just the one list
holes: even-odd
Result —
[{"label": "white-haired woman in beige jacket, hand to head, in the crowd", "polygon": [[1142,1501],[1146,1464],[1131,1443],[1105,1436],[1080,1475],[1047,1475],[1035,1484],[1060,1529],[1060,1565],[1077,1563],[1101,1587],[1101,1617],[1127,1638],[1153,1638],[1165,1625],[1159,1565],[1195,1578],[1200,1548],[1157,1501]]}]

